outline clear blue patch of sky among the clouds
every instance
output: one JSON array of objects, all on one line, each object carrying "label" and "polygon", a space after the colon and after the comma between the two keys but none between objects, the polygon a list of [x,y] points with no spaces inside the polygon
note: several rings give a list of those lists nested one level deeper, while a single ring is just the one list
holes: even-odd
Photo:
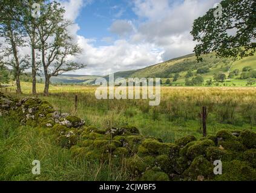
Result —
[{"label": "clear blue patch of sky among the clouds", "polygon": [[77,34],[96,39],[95,46],[110,45],[110,37],[118,39],[116,34],[111,33],[110,26],[117,19],[129,19],[136,21],[137,16],[132,10],[131,1],[94,1],[80,11],[76,19],[80,30]]}]

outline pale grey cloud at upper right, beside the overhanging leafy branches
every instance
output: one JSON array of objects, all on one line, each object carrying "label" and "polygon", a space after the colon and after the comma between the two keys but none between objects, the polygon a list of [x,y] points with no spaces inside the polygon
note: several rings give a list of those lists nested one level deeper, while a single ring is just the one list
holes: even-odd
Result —
[{"label": "pale grey cloud at upper right, beside the overhanging leafy branches", "polygon": [[164,49],[163,60],[189,54],[195,46],[189,34],[194,19],[202,16],[216,2],[220,0],[185,0],[175,4],[167,0],[135,0],[134,11],[146,21],[139,25],[131,40],[154,43]]}]

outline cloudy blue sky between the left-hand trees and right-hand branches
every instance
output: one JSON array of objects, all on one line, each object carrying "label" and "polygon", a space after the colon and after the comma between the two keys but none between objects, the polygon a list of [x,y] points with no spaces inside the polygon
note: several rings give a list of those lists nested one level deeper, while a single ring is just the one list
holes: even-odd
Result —
[{"label": "cloudy blue sky between the left-hand trees and right-hand branches", "polygon": [[82,48],[79,75],[107,75],[191,54],[194,19],[220,0],[59,0]]}]

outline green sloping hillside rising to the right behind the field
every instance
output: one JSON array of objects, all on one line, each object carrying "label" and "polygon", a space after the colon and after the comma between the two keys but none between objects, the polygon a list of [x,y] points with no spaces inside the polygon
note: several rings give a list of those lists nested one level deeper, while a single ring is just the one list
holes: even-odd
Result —
[{"label": "green sloping hillside rising to the right behind the field", "polygon": [[[214,53],[211,53],[203,56],[203,62],[197,62],[195,54],[189,54],[156,65],[148,66],[143,69],[136,70],[132,74],[132,71],[125,71],[117,72],[117,75],[118,77],[120,77],[119,75],[126,73],[124,76],[124,78],[126,78],[126,75],[129,74],[128,72],[130,72],[129,77],[158,77],[162,78],[163,80],[165,80],[166,78],[172,80],[174,74],[179,73],[180,77],[178,78],[177,83],[181,83],[185,81],[185,75],[188,71],[192,71],[193,76],[190,78],[193,78],[198,75],[198,69],[209,68],[209,72],[200,74],[206,81],[209,78],[212,78],[213,75],[218,72],[224,72],[228,77],[229,72],[238,69],[241,74],[241,71],[245,66],[251,66],[252,69],[256,70],[256,54],[252,57],[246,57],[245,59],[235,61],[234,59],[229,58],[220,59],[216,57]],[[238,78],[240,74],[234,78]]]}]

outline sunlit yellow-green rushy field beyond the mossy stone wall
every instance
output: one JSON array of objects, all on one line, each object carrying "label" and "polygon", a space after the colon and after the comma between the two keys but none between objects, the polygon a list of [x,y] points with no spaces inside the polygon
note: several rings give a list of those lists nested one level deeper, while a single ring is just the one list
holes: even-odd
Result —
[{"label": "sunlit yellow-green rushy field beyond the mossy stone wall", "polygon": [[[31,93],[30,83],[22,83],[23,95]],[[149,100],[97,100],[93,86],[52,86],[50,96],[42,95],[44,85],[38,84],[38,97],[49,101],[57,110],[70,112],[99,128],[134,125],[146,136],[165,142],[192,134],[202,136],[200,113],[208,107],[207,131],[215,134],[229,130],[256,130],[256,87],[162,87],[159,106]],[[8,91],[9,92],[9,91]],[[17,96],[15,92],[11,95]],[[78,95],[77,112],[74,95]]]}]

